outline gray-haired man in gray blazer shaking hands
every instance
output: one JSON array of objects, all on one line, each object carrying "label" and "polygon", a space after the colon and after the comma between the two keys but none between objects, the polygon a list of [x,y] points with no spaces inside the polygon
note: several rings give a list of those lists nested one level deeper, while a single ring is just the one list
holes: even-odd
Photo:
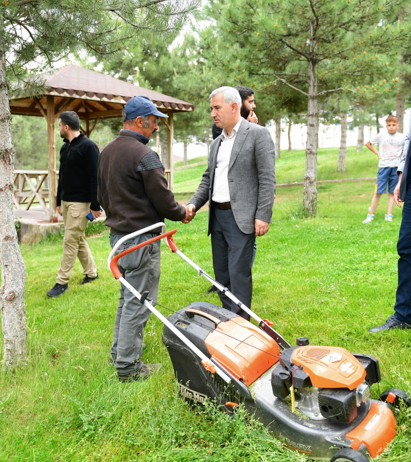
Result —
[{"label": "gray-haired man in gray blazer shaking hands", "polygon": [[[241,117],[236,89],[217,88],[210,100],[211,117],[223,132],[211,143],[207,169],[188,209],[194,213],[208,201],[215,279],[250,307],[254,241],[268,232],[273,213],[274,142],[267,128]],[[249,318],[226,295],[219,296],[224,308]]]}]

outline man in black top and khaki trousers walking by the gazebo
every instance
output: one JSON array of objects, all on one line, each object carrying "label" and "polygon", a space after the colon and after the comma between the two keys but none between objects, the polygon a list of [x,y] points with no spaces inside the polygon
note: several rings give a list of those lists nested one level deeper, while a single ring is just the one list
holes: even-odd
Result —
[{"label": "man in black top and khaki trousers walking by the gazebo", "polygon": [[89,222],[101,215],[97,201],[97,145],[80,132],[80,120],[74,111],[65,111],[59,117],[59,132],[64,138],[60,149],[59,185],[57,188],[57,213],[64,221],[63,258],[57,273],[57,282],[47,295],[59,297],[69,288],[68,281],[76,262],[83,266],[83,284],[98,278],[84,231]]}]

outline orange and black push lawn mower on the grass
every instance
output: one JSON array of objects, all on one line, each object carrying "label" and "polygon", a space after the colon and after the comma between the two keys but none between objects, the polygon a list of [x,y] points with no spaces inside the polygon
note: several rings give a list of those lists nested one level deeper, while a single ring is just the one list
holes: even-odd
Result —
[{"label": "orange and black push lawn mower on the grass", "polygon": [[[161,228],[163,233],[115,255],[126,240]],[[368,462],[393,440],[394,407],[410,406],[404,391],[389,389],[370,399],[369,387],[381,380],[378,360],[336,346],[310,345],[299,337],[296,346],[261,319],[226,287],[214,280],[156,223],[121,238],[108,257],[114,277],[163,323],[162,340],[170,355],[179,395],[186,401],[212,400],[235,412],[239,405],[259,419],[289,448],[315,460]],[[117,266],[121,256],[163,239],[217,289],[225,293],[256,324],[220,306],[194,302],[166,318],[148,292],[140,294]]]}]

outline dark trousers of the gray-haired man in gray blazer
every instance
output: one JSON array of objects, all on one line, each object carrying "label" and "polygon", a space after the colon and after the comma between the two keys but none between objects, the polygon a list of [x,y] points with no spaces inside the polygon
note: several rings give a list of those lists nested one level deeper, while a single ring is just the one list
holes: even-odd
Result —
[{"label": "dark trousers of the gray-haired man in gray blazer", "polygon": [[[240,231],[234,219],[232,209],[220,210],[211,207],[211,249],[215,279],[226,286],[241,302],[251,308],[253,281],[251,261],[253,258],[255,233]],[[238,313],[245,319],[244,313],[226,295],[219,292],[223,308]]]}]

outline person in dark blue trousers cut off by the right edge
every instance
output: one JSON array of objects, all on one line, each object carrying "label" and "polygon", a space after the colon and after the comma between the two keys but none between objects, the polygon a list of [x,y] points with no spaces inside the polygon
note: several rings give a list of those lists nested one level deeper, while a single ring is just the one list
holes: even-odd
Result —
[{"label": "person in dark blue trousers cut off by the right edge", "polygon": [[405,137],[403,155],[397,173],[399,176],[398,184],[394,189],[394,201],[401,207],[400,202],[404,202],[401,226],[397,243],[398,260],[398,286],[396,301],[394,305],[395,313],[381,326],[369,329],[369,332],[381,332],[391,329],[411,328],[411,120],[410,129]]}]

